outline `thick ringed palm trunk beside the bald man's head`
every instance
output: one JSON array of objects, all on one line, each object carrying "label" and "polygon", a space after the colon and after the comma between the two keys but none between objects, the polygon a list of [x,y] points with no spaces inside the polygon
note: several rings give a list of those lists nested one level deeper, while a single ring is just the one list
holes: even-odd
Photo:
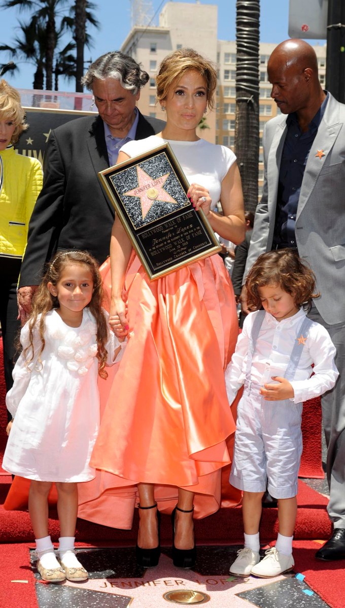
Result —
[{"label": "thick ringed palm trunk beside the bald man's head", "polygon": [[258,203],[259,19],[259,0],[237,0],[235,147],[248,211]]}]

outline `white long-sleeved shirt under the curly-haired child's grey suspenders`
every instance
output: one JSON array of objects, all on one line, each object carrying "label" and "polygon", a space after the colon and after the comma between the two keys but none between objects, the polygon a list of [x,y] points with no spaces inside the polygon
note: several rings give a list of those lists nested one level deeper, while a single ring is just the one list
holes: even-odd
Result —
[{"label": "white long-sleeved shirt under the curly-haired child's grey suspenders", "polygon": [[[245,381],[247,354],[256,314],[250,313],[245,318],[242,333],[237,339],[236,350],[225,370],[225,384],[230,403]],[[299,339],[304,339],[303,336],[299,336],[298,328],[302,325],[305,316],[306,313],[300,309],[293,317],[278,322],[272,314],[265,313],[251,364],[252,382],[260,386],[266,383],[274,384],[272,376],[284,376],[296,342],[296,335]],[[334,363],[335,354],[335,346],[327,330],[319,323],[313,322],[305,339],[295,379],[290,382],[295,392],[291,401],[304,402],[332,389],[339,375]],[[313,368],[312,364],[314,364]],[[310,378],[312,372],[313,376]]]}]

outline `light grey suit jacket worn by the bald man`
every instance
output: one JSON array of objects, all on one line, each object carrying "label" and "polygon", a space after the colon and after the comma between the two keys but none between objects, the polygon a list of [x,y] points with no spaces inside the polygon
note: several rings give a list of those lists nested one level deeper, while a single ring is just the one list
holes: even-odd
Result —
[{"label": "light grey suit jacket worn by the bald man", "polygon": [[[264,187],[254,220],[245,275],[272,249],[279,167],[287,116],[265,125]],[[322,151],[321,158],[317,155]],[[329,95],[304,171],[296,215],[298,253],[313,269],[321,296],[314,300],[329,325],[345,322],[345,105]]]}]

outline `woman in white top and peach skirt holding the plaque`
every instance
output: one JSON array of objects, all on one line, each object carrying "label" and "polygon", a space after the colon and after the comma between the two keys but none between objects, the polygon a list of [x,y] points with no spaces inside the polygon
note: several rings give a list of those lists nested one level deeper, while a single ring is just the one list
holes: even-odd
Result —
[{"label": "woman in white top and peach skirt holding the plaque", "polygon": [[[166,57],[157,76],[166,126],[158,136],[126,143],[118,162],[168,141],[190,183],[194,208],[203,209],[219,235],[241,243],[245,221],[236,157],[196,134],[215,88],[213,65],[195,51]],[[214,212],[217,201],[222,216]],[[111,287],[114,331],[128,336],[128,347],[91,459],[102,471],[94,482],[97,500],[87,502],[87,488],[84,500],[80,488],[79,516],[130,527],[137,496],[137,561],[152,566],[160,554],[158,508],[173,511],[174,564],[193,567],[193,514],[205,517],[219,508],[221,469],[230,463],[227,438],[235,429],[224,383],[238,334],[233,289],[217,254],[150,281],[118,217],[111,272],[106,263],[103,275]],[[104,519],[109,496],[111,515]]]}]

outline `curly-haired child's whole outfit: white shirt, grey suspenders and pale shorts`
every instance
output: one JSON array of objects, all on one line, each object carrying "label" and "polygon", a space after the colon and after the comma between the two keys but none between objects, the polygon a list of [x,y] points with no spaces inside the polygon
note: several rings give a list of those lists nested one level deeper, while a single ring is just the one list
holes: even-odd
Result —
[{"label": "curly-haired child's whole outfit: white shirt, grey suspenders and pale shorts", "polygon": [[[332,389],[338,377],[335,354],[327,330],[307,319],[302,309],[280,322],[262,310],[246,317],[225,371],[230,403],[244,384],[237,407],[231,485],[264,492],[268,478],[273,497],[296,496],[302,402]],[[289,380],[295,392],[292,399],[265,401],[260,389],[274,384],[272,376]]]}]

